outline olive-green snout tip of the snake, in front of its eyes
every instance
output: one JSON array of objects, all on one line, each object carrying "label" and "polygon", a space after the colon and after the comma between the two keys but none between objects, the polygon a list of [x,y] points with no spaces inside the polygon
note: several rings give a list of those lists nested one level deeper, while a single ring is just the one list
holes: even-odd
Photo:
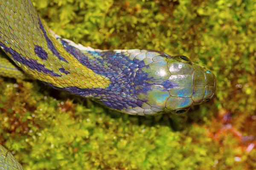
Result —
[{"label": "olive-green snout tip of the snake, in front of its eyes", "polygon": [[196,68],[193,73],[193,95],[194,104],[212,99],[216,91],[216,77],[206,68]]}]

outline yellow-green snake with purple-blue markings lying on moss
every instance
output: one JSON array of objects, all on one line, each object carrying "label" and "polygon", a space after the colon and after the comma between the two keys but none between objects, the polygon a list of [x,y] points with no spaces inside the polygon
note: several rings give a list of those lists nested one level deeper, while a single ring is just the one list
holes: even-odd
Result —
[{"label": "yellow-green snake with purple-blue markings lying on moss", "polygon": [[0,76],[36,79],[122,113],[186,113],[215,94],[215,75],[188,57],[76,44],[50,30],[30,0],[0,0],[0,48],[9,57],[0,58]]}]

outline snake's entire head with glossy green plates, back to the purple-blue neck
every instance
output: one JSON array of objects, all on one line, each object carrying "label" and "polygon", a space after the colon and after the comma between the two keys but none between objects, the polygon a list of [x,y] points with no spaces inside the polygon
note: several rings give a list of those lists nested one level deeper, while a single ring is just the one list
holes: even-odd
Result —
[{"label": "snake's entire head with glossy green plates, back to the purple-blue neck", "polygon": [[186,56],[167,54],[141,67],[134,82],[135,94],[142,101],[140,107],[150,107],[152,115],[185,113],[192,105],[212,99],[216,86],[215,75],[207,68]]}]

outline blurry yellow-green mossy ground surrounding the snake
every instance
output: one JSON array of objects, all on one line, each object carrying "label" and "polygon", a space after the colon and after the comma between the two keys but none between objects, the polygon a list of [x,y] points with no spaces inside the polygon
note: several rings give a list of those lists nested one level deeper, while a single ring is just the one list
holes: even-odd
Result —
[{"label": "blurry yellow-green mossy ground surrounding the snake", "polygon": [[217,94],[186,115],[141,117],[0,78],[0,144],[24,169],[256,168],[256,0],[33,2],[85,46],[186,55],[215,73]]}]

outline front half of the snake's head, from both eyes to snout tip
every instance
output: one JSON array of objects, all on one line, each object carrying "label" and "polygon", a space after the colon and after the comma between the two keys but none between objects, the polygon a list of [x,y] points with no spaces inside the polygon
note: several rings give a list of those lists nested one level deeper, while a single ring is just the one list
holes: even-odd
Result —
[{"label": "front half of the snake's head, from both eyes to snout tip", "polygon": [[[166,108],[172,113],[186,113],[192,105],[212,99],[215,94],[216,78],[211,71],[192,63],[186,56],[175,56],[167,65],[172,75],[166,82],[170,94]],[[175,102],[176,99],[179,102]]]}]

